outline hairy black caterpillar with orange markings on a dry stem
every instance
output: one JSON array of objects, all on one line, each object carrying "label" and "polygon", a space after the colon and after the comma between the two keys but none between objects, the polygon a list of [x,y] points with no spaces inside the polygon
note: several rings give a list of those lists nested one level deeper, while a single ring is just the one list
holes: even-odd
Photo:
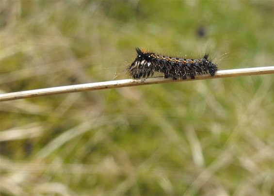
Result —
[{"label": "hairy black caterpillar with orange markings on a dry stem", "polygon": [[210,74],[213,76],[218,70],[217,65],[209,60],[205,54],[200,59],[184,59],[157,55],[145,49],[136,48],[137,57],[129,66],[128,72],[134,79],[153,76],[155,72],[163,73],[164,78],[195,79],[196,75]]}]

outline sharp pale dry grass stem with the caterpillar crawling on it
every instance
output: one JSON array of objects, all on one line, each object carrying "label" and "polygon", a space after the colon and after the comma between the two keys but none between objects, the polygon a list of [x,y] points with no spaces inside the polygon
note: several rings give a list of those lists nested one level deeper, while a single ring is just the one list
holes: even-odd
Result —
[{"label": "sharp pale dry grass stem with the caterpillar crawling on it", "polygon": [[[237,76],[251,76],[251,75],[262,75],[262,74],[274,74],[274,66],[220,70],[220,71],[217,71],[213,77],[209,75],[200,75],[200,76],[196,76],[195,80],[228,78],[228,77],[237,77]],[[75,93],[75,92],[81,92],[81,91],[94,91],[94,90],[100,90],[100,89],[138,86],[138,85],[146,85],[146,84],[185,82],[185,81],[192,81],[192,80],[193,79],[173,80],[171,78],[163,79],[162,77],[154,77],[154,78],[146,78],[146,79],[127,79],[127,80],[117,80],[117,81],[107,81],[107,82],[76,84],[76,85],[69,85],[69,86],[60,86],[60,87],[0,94],[0,101],[15,100],[20,98],[41,97],[46,95],[56,95],[56,94],[63,94],[63,93]]]}]

